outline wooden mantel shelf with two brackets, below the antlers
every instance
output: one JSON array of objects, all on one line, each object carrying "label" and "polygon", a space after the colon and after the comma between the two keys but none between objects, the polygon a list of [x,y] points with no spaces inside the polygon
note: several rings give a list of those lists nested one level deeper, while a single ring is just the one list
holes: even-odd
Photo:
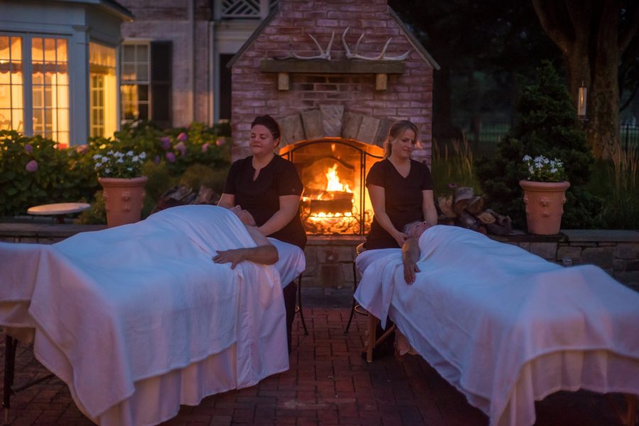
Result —
[{"label": "wooden mantel shelf with two brackets, below the antlers", "polygon": [[388,74],[403,74],[403,61],[367,60],[262,60],[261,72],[278,74],[278,90],[289,89],[291,72],[305,74],[375,74],[375,89],[386,90]]}]

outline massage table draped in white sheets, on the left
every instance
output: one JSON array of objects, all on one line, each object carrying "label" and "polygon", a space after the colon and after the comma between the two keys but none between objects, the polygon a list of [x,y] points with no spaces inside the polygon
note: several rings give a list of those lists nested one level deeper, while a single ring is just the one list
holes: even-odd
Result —
[{"label": "massage table draped in white sheets, on the left", "polygon": [[255,242],[224,208],[182,206],[55,245],[0,243],[0,326],[33,340],[92,421],[155,425],[288,369],[280,283],[305,258],[271,241],[273,266],[215,264]]}]

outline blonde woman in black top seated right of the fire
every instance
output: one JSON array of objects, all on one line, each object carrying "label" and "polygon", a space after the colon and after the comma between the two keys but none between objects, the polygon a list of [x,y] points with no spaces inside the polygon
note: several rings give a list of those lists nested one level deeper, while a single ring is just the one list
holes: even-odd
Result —
[{"label": "blonde woman in black top seated right of the fire", "polygon": [[437,225],[430,170],[410,158],[417,134],[417,126],[408,120],[394,123],[384,142],[385,159],[373,164],[366,176],[374,213],[366,250],[402,247],[408,237],[404,226],[416,220]]}]

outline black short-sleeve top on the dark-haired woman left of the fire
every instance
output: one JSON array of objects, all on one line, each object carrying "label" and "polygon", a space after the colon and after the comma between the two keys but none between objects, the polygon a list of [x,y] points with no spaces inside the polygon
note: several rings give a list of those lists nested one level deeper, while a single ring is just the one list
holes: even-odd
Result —
[{"label": "black short-sleeve top on the dark-haired woman left of the fire", "polygon": [[[224,194],[233,194],[235,203],[249,211],[257,225],[261,226],[280,210],[280,196],[301,196],[303,186],[295,165],[279,155],[275,155],[260,170],[255,181],[254,174],[252,155],[237,160],[231,164],[226,177]],[[304,249],[306,232],[300,219],[300,211],[297,211],[297,215],[284,228],[267,236]]]}]

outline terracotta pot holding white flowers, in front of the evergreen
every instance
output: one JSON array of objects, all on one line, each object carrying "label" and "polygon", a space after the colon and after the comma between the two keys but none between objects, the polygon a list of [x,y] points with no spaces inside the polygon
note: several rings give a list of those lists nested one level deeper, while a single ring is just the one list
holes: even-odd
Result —
[{"label": "terracotta pot holding white flowers, in front of the evergreen", "polygon": [[519,181],[524,190],[528,232],[537,235],[559,233],[570,183]]}]

